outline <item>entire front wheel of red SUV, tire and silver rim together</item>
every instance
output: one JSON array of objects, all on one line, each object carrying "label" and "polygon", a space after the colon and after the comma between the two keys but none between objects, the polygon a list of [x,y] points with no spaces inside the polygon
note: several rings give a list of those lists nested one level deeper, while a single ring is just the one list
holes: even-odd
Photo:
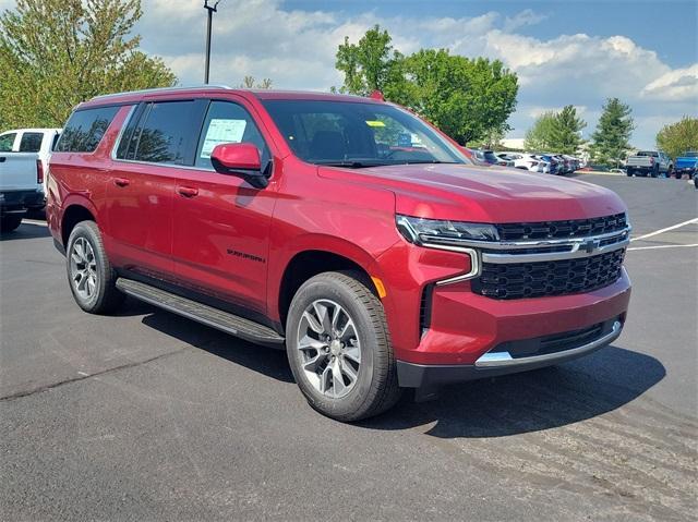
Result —
[{"label": "entire front wheel of red SUV, tire and silver rim together", "polygon": [[342,422],[377,415],[400,397],[383,305],[359,272],[309,279],[291,302],[288,360],[303,396]]}]

